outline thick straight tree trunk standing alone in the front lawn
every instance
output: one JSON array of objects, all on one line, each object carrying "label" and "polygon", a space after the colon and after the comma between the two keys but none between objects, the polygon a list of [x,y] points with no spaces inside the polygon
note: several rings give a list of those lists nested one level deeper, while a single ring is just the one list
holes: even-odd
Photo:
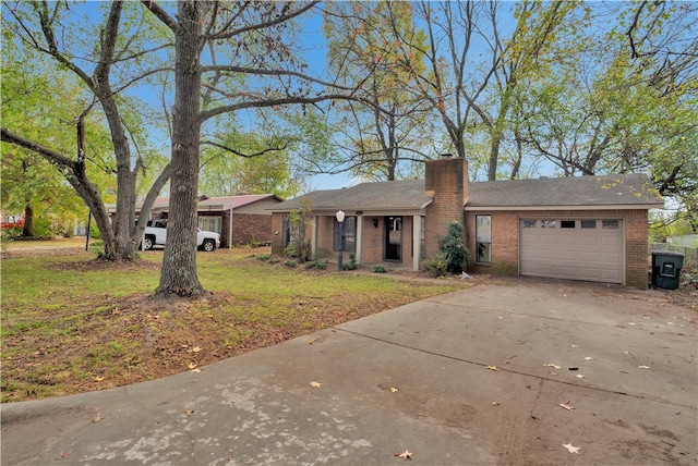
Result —
[{"label": "thick straight tree trunk standing alone in the front lawn", "polygon": [[196,275],[196,208],[202,19],[208,2],[180,1],[174,38],[174,108],[172,110],[172,176],[167,244],[158,296],[193,296],[205,293]]}]

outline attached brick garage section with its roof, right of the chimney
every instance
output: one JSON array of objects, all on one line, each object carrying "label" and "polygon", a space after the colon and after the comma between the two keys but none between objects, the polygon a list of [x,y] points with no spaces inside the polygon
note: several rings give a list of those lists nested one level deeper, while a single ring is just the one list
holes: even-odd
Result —
[{"label": "attached brick garage section with its roof, right of the chimney", "polygon": [[663,201],[647,175],[473,182],[469,187],[469,271],[648,286],[648,210],[662,208]]}]

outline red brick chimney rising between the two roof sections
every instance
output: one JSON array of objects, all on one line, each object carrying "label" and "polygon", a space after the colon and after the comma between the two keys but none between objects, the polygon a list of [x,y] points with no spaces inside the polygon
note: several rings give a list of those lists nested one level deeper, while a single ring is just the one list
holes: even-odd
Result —
[{"label": "red brick chimney rising between the two roof sections", "polygon": [[[468,161],[450,155],[430,160],[424,167],[424,191],[434,199],[426,208],[424,246],[426,257],[438,250],[438,237],[445,236],[453,221],[465,223],[468,203]],[[465,238],[464,238],[465,241]]]}]

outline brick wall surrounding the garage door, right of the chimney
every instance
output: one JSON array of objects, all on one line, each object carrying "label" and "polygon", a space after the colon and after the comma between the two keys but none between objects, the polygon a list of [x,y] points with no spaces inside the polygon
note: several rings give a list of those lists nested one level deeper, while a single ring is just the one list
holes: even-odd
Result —
[{"label": "brick wall surrounding the garage door, right of the chimney", "polygon": [[492,263],[474,263],[468,270],[476,273],[518,274],[518,224],[520,218],[556,219],[623,219],[625,228],[625,285],[647,287],[649,246],[647,210],[529,210],[471,211],[466,214],[466,244],[476,250],[476,216],[492,216]]}]

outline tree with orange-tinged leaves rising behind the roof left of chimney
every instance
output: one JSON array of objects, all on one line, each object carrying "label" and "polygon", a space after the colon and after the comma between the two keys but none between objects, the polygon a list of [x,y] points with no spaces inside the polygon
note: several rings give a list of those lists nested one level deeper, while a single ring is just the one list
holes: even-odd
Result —
[{"label": "tree with orange-tinged leaves rising behind the roof left of chimney", "polygon": [[[337,164],[354,175],[393,181],[414,172],[432,147],[428,106],[406,91],[410,74],[399,66],[401,38],[423,45],[412,27],[409,2],[339,2],[328,4],[325,35],[330,63],[348,83],[365,76],[363,101],[337,106],[341,154]],[[412,53],[413,54],[413,53]],[[412,57],[410,66],[423,69]]]}]

